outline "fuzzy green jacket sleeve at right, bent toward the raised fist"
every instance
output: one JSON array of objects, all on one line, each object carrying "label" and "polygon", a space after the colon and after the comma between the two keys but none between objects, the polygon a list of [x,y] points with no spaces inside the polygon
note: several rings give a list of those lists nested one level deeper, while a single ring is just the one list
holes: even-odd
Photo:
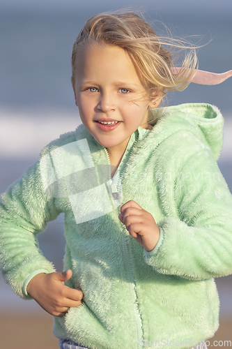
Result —
[{"label": "fuzzy green jacket sleeve at right, bent toward the raised fist", "polygon": [[160,240],[144,254],[157,272],[202,280],[232,273],[232,197],[210,149],[194,149],[175,179],[163,184],[168,208],[157,223]]}]

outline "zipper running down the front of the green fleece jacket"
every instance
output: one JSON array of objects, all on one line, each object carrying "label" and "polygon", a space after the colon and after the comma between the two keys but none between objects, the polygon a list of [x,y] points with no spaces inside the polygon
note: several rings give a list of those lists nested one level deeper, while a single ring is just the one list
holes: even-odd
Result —
[{"label": "zipper running down the front of the green fleece jacket", "polygon": [[[105,148],[105,151],[109,161],[109,178],[111,180],[111,187],[112,187],[113,179],[111,175],[111,163],[110,163],[109,154],[106,148]],[[121,179],[120,177],[121,176],[119,176],[119,179]],[[116,185],[113,185],[113,186],[114,188],[112,188],[112,195],[114,197],[114,194],[116,194],[116,192],[114,191],[117,189],[116,189]],[[120,214],[120,207],[117,208],[117,211],[118,211],[118,214]],[[125,257],[125,272],[126,272],[127,281],[130,288],[130,297],[132,299],[132,303],[134,306],[134,315],[137,323],[137,343],[138,343],[137,348],[139,348],[139,343],[141,340],[143,340],[144,334],[142,330],[142,321],[141,321],[141,314],[139,312],[139,304],[137,302],[137,292],[135,290],[136,283],[132,275],[133,265],[132,265],[132,259],[131,259],[131,251],[130,251],[130,234],[129,232],[127,232],[125,225],[123,225],[123,232],[124,234],[122,235],[122,247],[123,247],[123,255]]]}]

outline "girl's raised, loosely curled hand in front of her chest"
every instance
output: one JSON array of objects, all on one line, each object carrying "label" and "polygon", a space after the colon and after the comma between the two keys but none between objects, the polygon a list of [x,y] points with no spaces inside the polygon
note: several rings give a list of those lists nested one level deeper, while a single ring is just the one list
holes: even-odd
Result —
[{"label": "girl's raised, loosely curled hand in front of her chest", "polygon": [[136,239],[146,251],[155,248],[159,238],[160,229],[153,216],[142,209],[137,202],[130,200],[121,207],[120,221],[125,224],[128,232]]}]

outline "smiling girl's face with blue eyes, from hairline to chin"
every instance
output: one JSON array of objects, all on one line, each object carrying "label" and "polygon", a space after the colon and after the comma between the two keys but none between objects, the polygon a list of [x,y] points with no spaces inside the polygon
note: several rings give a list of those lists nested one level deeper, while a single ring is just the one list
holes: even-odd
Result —
[{"label": "smiling girl's face with blue eyes, from hairline to chin", "polygon": [[147,127],[148,105],[154,107],[154,101],[121,47],[84,47],[73,88],[84,126],[109,152],[125,151],[130,135]]}]

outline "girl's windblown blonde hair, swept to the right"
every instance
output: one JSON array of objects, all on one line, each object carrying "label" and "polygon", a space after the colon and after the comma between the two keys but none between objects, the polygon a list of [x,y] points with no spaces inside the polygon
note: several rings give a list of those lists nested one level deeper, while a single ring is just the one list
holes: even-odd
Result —
[{"label": "girl's windblown blonde hair, swept to the right", "polygon": [[[183,40],[169,37],[158,38],[153,28],[134,13],[102,13],[87,20],[72,48],[72,84],[78,54],[82,47],[91,43],[116,45],[129,54],[150,95],[161,91],[182,91],[194,77],[198,65],[196,50]],[[166,47],[169,47],[169,50]],[[171,50],[185,52],[183,63],[175,70]],[[187,50],[190,49],[190,50]]]}]

